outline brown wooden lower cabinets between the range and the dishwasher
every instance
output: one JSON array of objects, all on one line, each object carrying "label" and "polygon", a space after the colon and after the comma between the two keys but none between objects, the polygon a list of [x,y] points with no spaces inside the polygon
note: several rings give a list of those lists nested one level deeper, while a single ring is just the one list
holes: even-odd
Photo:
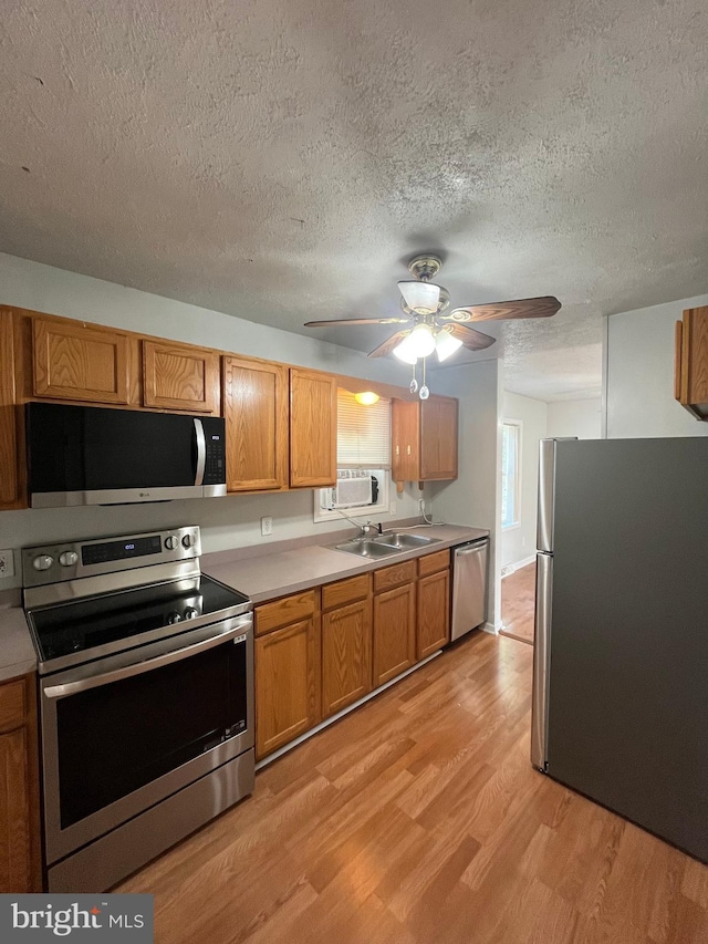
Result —
[{"label": "brown wooden lower cabinets between the range and the dishwasher", "polygon": [[449,642],[449,551],[256,608],[260,760]]}]

